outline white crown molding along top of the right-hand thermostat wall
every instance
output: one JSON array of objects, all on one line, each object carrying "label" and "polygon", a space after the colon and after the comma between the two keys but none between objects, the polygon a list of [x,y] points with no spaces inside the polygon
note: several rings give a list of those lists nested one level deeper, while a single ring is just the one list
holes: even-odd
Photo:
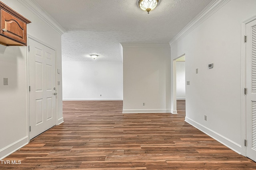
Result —
[{"label": "white crown molding along top of the right-hand thermostat wall", "polygon": [[188,35],[192,30],[194,30],[198,25],[200,25],[202,22],[204,22],[207,18],[212,16],[216,11],[218,11],[222,6],[224,6],[226,3],[228,3],[230,0],[213,0],[202,12],[200,12],[186,27],[184,27],[170,42],[170,46],[172,46],[174,43],[177,43]]}]

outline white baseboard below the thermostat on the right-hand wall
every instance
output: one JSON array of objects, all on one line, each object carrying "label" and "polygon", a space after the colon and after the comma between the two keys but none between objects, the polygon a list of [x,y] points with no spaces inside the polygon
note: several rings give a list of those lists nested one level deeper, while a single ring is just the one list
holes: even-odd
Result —
[{"label": "white baseboard below the thermostat on the right-hand wall", "polygon": [[206,135],[212,137],[213,139],[215,139],[216,141],[222,143],[223,145],[225,145],[226,147],[228,147],[229,149],[234,150],[235,152],[237,152],[238,154],[242,153],[242,146],[239,145],[238,143],[220,135],[219,133],[209,129],[208,127],[205,127],[204,125],[201,125],[200,123],[185,117],[185,121],[187,123],[189,123],[190,125],[194,126],[196,129],[204,132]]}]

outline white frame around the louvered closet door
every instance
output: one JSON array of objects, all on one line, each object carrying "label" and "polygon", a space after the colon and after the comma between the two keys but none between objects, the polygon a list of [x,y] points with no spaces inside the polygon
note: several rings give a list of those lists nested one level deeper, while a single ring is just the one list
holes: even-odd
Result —
[{"label": "white frame around the louvered closet door", "polygon": [[243,156],[246,156],[246,146],[244,146],[244,140],[246,139],[246,95],[244,94],[244,88],[247,88],[246,43],[244,42],[244,36],[246,36],[246,24],[253,20],[256,20],[256,16],[252,16],[241,24],[241,154]]}]

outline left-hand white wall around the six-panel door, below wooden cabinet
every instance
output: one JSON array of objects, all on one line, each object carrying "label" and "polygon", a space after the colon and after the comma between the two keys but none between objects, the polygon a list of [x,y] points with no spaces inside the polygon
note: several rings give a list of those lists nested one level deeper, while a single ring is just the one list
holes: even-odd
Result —
[{"label": "left-hand white wall around the six-panel door, below wooden cabinet", "polygon": [[[2,0],[2,2],[32,21],[27,27],[28,35],[56,49],[56,65],[61,69],[61,35],[18,0]],[[29,142],[27,67],[27,47],[0,45],[0,160]],[[9,80],[8,86],[3,85],[4,77]],[[61,77],[59,74],[59,81]],[[58,92],[62,93],[62,86],[58,86]],[[63,121],[62,95],[58,96],[58,119],[59,123]]]}]

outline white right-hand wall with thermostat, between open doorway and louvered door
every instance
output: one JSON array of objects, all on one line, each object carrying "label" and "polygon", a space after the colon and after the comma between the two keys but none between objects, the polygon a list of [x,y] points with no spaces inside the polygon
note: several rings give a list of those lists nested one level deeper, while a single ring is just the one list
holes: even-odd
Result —
[{"label": "white right-hand wall with thermostat, between open doorway and louvered door", "polygon": [[[172,59],[186,54],[186,121],[238,153],[244,140],[241,23],[255,16],[255,9],[255,0],[231,0],[180,41],[170,43]],[[208,69],[209,63],[214,68]]]}]

